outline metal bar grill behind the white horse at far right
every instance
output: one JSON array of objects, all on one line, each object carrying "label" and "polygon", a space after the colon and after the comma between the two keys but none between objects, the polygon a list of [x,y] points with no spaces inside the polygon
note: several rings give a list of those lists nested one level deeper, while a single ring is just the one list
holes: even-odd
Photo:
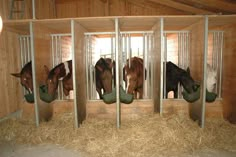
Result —
[{"label": "metal bar grill behind the white horse at far right", "polygon": [[209,31],[208,39],[208,64],[216,70],[216,88],[215,93],[221,98],[222,89],[222,65],[223,65],[223,44],[224,31]]}]

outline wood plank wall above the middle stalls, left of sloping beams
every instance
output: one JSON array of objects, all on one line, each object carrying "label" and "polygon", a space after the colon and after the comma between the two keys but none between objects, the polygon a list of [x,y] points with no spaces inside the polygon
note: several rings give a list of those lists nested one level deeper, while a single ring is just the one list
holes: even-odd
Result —
[{"label": "wood plank wall above the middle stalls, left of sloping beams", "polygon": [[151,2],[140,3],[137,0],[56,0],[55,3],[57,18],[188,14]]}]

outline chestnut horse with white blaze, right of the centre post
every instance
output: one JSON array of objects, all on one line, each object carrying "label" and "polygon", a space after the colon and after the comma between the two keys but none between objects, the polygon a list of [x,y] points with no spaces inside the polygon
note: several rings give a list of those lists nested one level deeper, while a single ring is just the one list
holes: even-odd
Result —
[{"label": "chestnut horse with white blaze, right of the centre post", "polygon": [[134,98],[143,98],[143,75],[143,59],[138,57],[132,57],[130,60],[127,59],[123,68],[123,80],[127,85],[127,93],[133,94]]}]

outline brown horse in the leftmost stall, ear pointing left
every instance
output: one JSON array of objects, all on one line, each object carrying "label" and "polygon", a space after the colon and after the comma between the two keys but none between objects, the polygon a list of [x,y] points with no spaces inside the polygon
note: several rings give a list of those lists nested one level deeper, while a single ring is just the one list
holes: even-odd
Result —
[{"label": "brown horse in the leftmost stall, ear pointing left", "polygon": [[32,64],[31,61],[26,63],[21,69],[20,73],[12,73],[12,76],[20,78],[21,85],[32,94],[33,93],[33,79],[32,79]]}]

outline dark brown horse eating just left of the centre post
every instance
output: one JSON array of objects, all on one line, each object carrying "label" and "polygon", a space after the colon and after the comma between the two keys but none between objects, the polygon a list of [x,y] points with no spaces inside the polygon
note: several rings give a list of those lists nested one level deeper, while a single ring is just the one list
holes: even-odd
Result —
[{"label": "dark brown horse eating just left of the centre post", "polygon": [[[113,74],[112,75],[112,69]],[[96,90],[99,98],[102,99],[103,93],[112,91],[112,79],[114,78],[115,85],[115,62],[110,58],[100,58],[95,64]]]}]

